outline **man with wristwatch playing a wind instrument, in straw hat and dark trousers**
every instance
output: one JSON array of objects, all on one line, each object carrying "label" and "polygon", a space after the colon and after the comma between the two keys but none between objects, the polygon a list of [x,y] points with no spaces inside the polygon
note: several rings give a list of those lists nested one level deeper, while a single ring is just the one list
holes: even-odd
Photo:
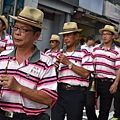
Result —
[{"label": "man with wristwatch playing a wind instrument, in straw hat and dark trousers", "polygon": [[51,111],[52,120],[82,120],[87,79],[93,71],[92,57],[86,50],[80,50],[79,32],[76,22],[64,23],[64,43],[67,46],[55,62],[58,68],[58,100]]}]

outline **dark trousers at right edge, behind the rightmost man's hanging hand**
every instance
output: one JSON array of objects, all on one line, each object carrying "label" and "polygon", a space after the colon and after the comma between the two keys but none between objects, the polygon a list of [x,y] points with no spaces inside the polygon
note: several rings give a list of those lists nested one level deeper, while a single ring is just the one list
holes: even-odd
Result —
[{"label": "dark trousers at right edge, behind the rightmost man's hanging hand", "polygon": [[114,94],[114,117],[120,119],[120,83],[118,84],[117,92]]}]

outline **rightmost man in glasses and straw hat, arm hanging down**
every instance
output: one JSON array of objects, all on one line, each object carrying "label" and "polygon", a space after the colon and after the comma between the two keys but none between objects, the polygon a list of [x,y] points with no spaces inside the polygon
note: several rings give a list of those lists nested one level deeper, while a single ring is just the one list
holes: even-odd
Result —
[{"label": "rightmost man in glasses and straw hat, arm hanging down", "polygon": [[113,42],[117,37],[117,32],[111,25],[105,25],[99,32],[102,35],[103,43],[94,47],[93,59],[96,90],[100,97],[100,111],[97,118],[94,107],[95,96],[89,91],[86,102],[88,120],[108,120],[113,96],[120,80],[120,52]]}]

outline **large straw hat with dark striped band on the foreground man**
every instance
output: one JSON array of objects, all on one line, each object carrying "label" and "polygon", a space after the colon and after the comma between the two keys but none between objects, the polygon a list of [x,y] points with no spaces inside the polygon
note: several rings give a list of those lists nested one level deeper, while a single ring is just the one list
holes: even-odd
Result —
[{"label": "large straw hat with dark striped band on the foreground man", "polygon": [[25,6],[18,16],[9,16],[16,21],[20,21],[37,28],[47,29],[46,27],[42,26],[44,13],[39,9]]}]

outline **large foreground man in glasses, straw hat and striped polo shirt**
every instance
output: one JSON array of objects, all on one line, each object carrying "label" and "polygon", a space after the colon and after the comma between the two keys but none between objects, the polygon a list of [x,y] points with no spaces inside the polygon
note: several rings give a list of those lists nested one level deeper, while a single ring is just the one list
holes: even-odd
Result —
[{"label": "large foreground man in glasses, straw hat and striped polo shirt", "polygon": [[[57,77],[49,56],[33,44],[40,36],[43,12],[25,6],[15,20],[16,48],[0,56],[0,120],[43,120],[57,99]],[[48,119],[47,119],[48,120]]]}]

